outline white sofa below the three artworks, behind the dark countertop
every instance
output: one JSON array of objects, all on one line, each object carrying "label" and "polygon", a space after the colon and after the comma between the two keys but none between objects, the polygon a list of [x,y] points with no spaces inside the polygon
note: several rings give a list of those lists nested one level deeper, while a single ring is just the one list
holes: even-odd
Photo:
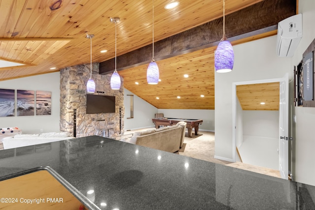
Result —
[{"label": "white sofa below the three artworks, behind the dark countertop", "polygon": [[50,142],[57,142],[66,139],[73,139],[67,132],[50,132],[42,134],[17,134],[15,136],[2,139],[3,149],[19,148],[31,145],[38,145]]}]

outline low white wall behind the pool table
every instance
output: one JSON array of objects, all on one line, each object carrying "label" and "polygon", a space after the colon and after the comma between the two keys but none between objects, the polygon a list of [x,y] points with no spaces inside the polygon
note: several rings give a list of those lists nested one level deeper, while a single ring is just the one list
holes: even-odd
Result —
[{"label": "low white wall behind the pool table", "polygon": [[166,118],[202,120],[199,130],[215,131],[215,111],[206,109],[158,109]]}]

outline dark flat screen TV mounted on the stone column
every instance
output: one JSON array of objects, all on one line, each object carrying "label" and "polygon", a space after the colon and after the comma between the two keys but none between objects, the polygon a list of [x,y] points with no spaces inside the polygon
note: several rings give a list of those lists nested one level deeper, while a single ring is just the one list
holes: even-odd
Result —
[{"label": "dark flat screen TV mounted on the stone column", "polygon": [[87,94],[87,114],[115,113],[115,96]]}]

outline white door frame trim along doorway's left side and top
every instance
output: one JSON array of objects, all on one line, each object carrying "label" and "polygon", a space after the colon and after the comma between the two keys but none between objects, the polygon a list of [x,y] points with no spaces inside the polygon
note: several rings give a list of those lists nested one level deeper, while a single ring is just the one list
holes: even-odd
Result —
[{"label": "white door frame trim along doorway's left side and top", "polygon": [[[251,81],[242,81],[242,82],[233,82],[232,83],[232,160],[236,162],[236,116],[237,116],[237,95],[236,95],[236,86],[238,85],[252,85],[252,84],[261,84],[261,83],[273,83],[273,82],[282,82],[284,78],[273,78],[273,79],[264,79],[264,80],[251,80]],[[280,92],[279,92],[280,96]]]}]

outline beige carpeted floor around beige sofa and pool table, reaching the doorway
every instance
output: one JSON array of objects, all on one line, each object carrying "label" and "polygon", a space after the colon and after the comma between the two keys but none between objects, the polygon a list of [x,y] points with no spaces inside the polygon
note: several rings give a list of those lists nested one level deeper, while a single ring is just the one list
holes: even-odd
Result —
[{"label": "beige carpeted floor around beige sofa and pool table, reaching the doorway", "polygon": [[[132,131],[126,131],[125,134],[132,134],[136,131],[143,131],[154,128],[138,129]],[[186,132],[185,140],[182,148],[176,152],[179,155],[184,155],[188,157],[193,157],[200,160],[205,160],[209,162],[219,163],[222,165],[235,167],[247,171],[252,171],[255,173],[265,174],[273,177],[280,178],[280,172],[273,169],[263,168],[259,166],[253,166],[241,162],[228,162],[220,159],[214,158],[215,155],[215,133],[209,131],[199,131],[198,135],[195,136],[192,133],[191,138],[188,137],[188,132]]]}]

